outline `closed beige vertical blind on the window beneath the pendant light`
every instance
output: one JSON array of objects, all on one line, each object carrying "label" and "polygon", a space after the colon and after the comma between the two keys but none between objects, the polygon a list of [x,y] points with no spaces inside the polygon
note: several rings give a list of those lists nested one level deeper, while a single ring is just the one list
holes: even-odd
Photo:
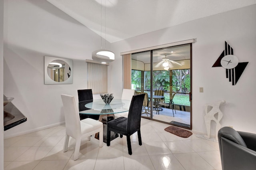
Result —
[{"label": "closed beige vertical blind on the window beneath the pendant light", "polygon": [[107,65],[87,63],[87,88],[93,94],[108,93]]}]

